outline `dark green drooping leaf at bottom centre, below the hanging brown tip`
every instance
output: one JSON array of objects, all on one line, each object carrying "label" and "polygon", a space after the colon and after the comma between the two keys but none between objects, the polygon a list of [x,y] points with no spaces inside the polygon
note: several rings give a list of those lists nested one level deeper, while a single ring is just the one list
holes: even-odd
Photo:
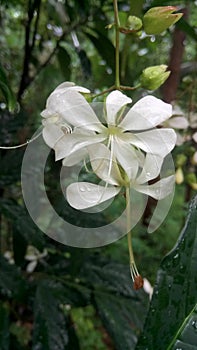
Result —
[{"label": "dark green drooping leaf at bottom centre, below the hanging brown tip", "polygon": [[147,295],[133,290],[128,266],[88,263],[84,274],[92,284],[95,307],[116,349],[133,349],[143,327]]}]

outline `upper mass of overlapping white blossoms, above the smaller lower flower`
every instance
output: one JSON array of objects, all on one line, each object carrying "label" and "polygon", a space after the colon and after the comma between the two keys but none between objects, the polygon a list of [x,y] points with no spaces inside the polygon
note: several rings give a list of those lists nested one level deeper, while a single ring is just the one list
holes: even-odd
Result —
[{"label": "upper mass of overlapping white blossoms, above the smaller lower flower", "polygon": [[[49,96],[41,114],[44,140],[64,165],[78,163],[88,154],[89,146],[100,143],[110,149],[123,168],[125,163],[130,168],[131,163],[139,161],[137,149],[162,158],[173,149],[175,132],[155,128],[171,116],[171,105],[146,96],[124,115],[124,108],[132,101],[120,91],[113,91],[106,98],[105,120],[101,122],[80,92],[89,91],[61,84]],[[72,133],[68,133],[70,129]]]}]

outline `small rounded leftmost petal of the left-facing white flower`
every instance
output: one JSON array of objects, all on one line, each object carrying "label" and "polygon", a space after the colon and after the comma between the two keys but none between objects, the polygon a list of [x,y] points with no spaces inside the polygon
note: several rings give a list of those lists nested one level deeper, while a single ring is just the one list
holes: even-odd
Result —
[{"label": "small rounded leftmost petal of the left-facing white flower", "polygon": [[54,145],[57,143],[59,139],[64,135],[64,132],[61,128],[55,124],[47,124],[42,131],[43,139],[46,144],[54,148]]}]

